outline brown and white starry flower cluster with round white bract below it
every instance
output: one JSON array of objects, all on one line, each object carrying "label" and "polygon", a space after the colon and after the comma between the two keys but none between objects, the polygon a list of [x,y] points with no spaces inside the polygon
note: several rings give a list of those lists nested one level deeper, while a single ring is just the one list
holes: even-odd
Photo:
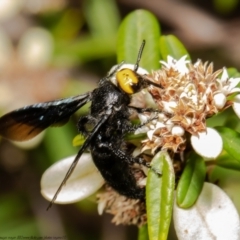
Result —
[{"label": "brown and white starry flower cluster with round white bract below it", "polygon": [[167,62],[161,61],[163,67],[149,76],[160,86],[148,91],[165,119],[148,124],[149,141],[143,141],[143,149],[184,151],[189,133],[194,150],[205,159],[215,159],[223,142],[217,131],[207,128],[206,119],[230,105],[240,117],[240,95],[230,98],[240,93],[240,78],[230,78],[225,68],[214,71],[213,63],[198,60],[192,64],[186,57],[168,56]]}]

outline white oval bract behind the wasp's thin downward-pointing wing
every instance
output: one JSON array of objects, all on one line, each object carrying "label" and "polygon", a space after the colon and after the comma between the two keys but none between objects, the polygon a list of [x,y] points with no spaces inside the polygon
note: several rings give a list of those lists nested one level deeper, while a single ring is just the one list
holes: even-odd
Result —
[{"label": "white oval bract behind the wasp's thin downward-pointing wing", "polygon": [[[65,158],[48,168],[41,179],[41,193],[52,200],[75,156]],[[84,153],[68,179],[55,203],[73,203],[96,192],[104,184],[100,172],[91,159],[91,154]]]}]

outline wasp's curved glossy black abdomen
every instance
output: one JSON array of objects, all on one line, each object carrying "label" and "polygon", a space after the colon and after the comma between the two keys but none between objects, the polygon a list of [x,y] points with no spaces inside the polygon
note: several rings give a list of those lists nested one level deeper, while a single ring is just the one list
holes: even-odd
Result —
[{"label": "wasp's curved glossy black abdomen", "polygon": [[[114,140],[114,147],[111,140]],[[138,186],[134,169],[130,167],[134,161],[130,155],[119,150],[120,140],[111,140],[98,141],[91,147],[95,165],[109,186],[118,193],[133,199],[144,199],[145,188]]]}]

